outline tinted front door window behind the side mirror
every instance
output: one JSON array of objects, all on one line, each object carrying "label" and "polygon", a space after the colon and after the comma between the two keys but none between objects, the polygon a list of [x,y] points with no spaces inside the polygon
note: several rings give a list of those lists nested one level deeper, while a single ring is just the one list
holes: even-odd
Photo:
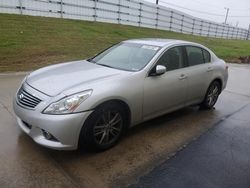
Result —
[{"label": "tinted front door window behind the side mirror", "polygon": [[167,67],[167,71],[184,67],[181,47],[174,47],[167,50],[158,60],[158,65]]}]

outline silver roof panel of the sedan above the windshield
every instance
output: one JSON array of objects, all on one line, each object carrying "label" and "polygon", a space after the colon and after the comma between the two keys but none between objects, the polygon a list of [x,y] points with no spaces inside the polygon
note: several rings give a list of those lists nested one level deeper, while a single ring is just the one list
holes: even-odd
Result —
[{"label": "silver roof panel of the sedan above the windshield", "polygon": [[145,44],[145,45],[152,45],[152,46],[159,46],[159,47],[165,47],[170,44],[193,44],[197,45],[196,43],[183,41],[183,40],[177,40],[177,39],[161,39],[161,38],[142,38],[142,39],[131,39],[126,40],[124,42],[129,43],[137,43],[137,44]]}]

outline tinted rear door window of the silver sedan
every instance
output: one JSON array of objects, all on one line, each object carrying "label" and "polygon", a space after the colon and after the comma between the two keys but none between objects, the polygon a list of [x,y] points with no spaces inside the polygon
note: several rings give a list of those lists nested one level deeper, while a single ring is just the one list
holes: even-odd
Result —
[{"label": "tinted rear door window of the silver sedan", "polygon": [[199,47],[187,46],[187,56],[189,66],[199,65],[204,63],[203,52]]}]

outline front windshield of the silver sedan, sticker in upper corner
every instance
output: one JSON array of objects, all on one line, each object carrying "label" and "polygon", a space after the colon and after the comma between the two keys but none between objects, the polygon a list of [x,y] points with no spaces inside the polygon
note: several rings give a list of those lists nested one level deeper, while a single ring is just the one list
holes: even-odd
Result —
[{"label": "front windshield of the silver sedan, sticker in upper corner", "polygon": [[139,71],[149,63],[159,49],[158,46],[120,43],[89,59],[89,61],[111,68]]}]

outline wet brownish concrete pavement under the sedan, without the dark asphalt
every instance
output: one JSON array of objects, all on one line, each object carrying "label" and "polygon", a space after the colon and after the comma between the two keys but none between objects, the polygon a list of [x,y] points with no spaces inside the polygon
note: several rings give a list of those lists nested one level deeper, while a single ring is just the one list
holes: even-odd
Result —
[{"label": "wet brownish concrete pavement under the sedan, without the dark asphalt", "polygon": [[250,102],[250,66],[230,64],[214,110],[194,106],[148,121],[105,152],[54,151],[17,127],[12,99],[24,76],[0,75],[0,187],[128,186]]}]

